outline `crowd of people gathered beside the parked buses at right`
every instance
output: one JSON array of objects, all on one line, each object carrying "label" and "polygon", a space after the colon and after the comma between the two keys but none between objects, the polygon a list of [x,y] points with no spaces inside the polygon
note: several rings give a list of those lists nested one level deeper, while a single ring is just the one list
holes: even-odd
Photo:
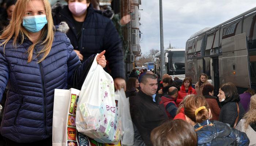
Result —
[{"label": "crowd of people gathered beside the parked buses at right", "polygon": [[136,146],[256,145],[253,89],[239,95],[236,86],[228,82],[221,85],[215,97],[214,86],[204,73],[195,89],[189,77],[178,87],[167,74],[161,81],[150,71],[141,70],[141,75],[140,81],[132,77],[127,82],[133,82],[134,92],[127,91],[127,96]]}]

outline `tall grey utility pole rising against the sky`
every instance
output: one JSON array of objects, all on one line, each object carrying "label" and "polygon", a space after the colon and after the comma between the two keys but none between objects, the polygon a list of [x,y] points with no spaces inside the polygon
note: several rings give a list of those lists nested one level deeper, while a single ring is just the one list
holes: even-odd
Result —
[{"label": "tall grey utility pole rising against the sky", "polygon": [[163,5],[162,0],[159,0],[159,14],[160,14],[160,53],[161,53],[161,78],[165,73],[165,54],[163,47]]}]

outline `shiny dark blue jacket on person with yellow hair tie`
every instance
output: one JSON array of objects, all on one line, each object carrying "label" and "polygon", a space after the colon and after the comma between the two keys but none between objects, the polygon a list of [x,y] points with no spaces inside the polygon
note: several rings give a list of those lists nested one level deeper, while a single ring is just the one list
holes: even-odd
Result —
[{"label": "shiny dark blue jacket on person with yellow hair tie", "polygon": [[219,121],[206,120],[194,127],[198,146],[248,146],[250,142],[244,132]]}]

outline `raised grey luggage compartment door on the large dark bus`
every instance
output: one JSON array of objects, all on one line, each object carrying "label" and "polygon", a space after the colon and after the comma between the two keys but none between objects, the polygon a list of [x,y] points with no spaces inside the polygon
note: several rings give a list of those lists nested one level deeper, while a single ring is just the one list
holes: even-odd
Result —
[{"label": "raised grey luggage compartment door on the large dark bus", "polygon": [[222,40],[222,71],[225,82],[249,88],[249,57],[246,35],[238,34]]}]

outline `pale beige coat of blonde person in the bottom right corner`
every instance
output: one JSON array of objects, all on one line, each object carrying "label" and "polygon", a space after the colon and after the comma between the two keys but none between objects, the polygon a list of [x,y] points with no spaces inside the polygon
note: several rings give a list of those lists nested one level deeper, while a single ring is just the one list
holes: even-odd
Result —
[{"label": "pale beige coat of blonde person in the bottom right corner", "polygon": [[249,146],[256,146],[256,132],[253,130],[251,126],[248,126],[248,129],[244,129],[245,119],[241,119],[237,124],[236,129],[242,132],[245,132],[247,137],[250,139]]}]

